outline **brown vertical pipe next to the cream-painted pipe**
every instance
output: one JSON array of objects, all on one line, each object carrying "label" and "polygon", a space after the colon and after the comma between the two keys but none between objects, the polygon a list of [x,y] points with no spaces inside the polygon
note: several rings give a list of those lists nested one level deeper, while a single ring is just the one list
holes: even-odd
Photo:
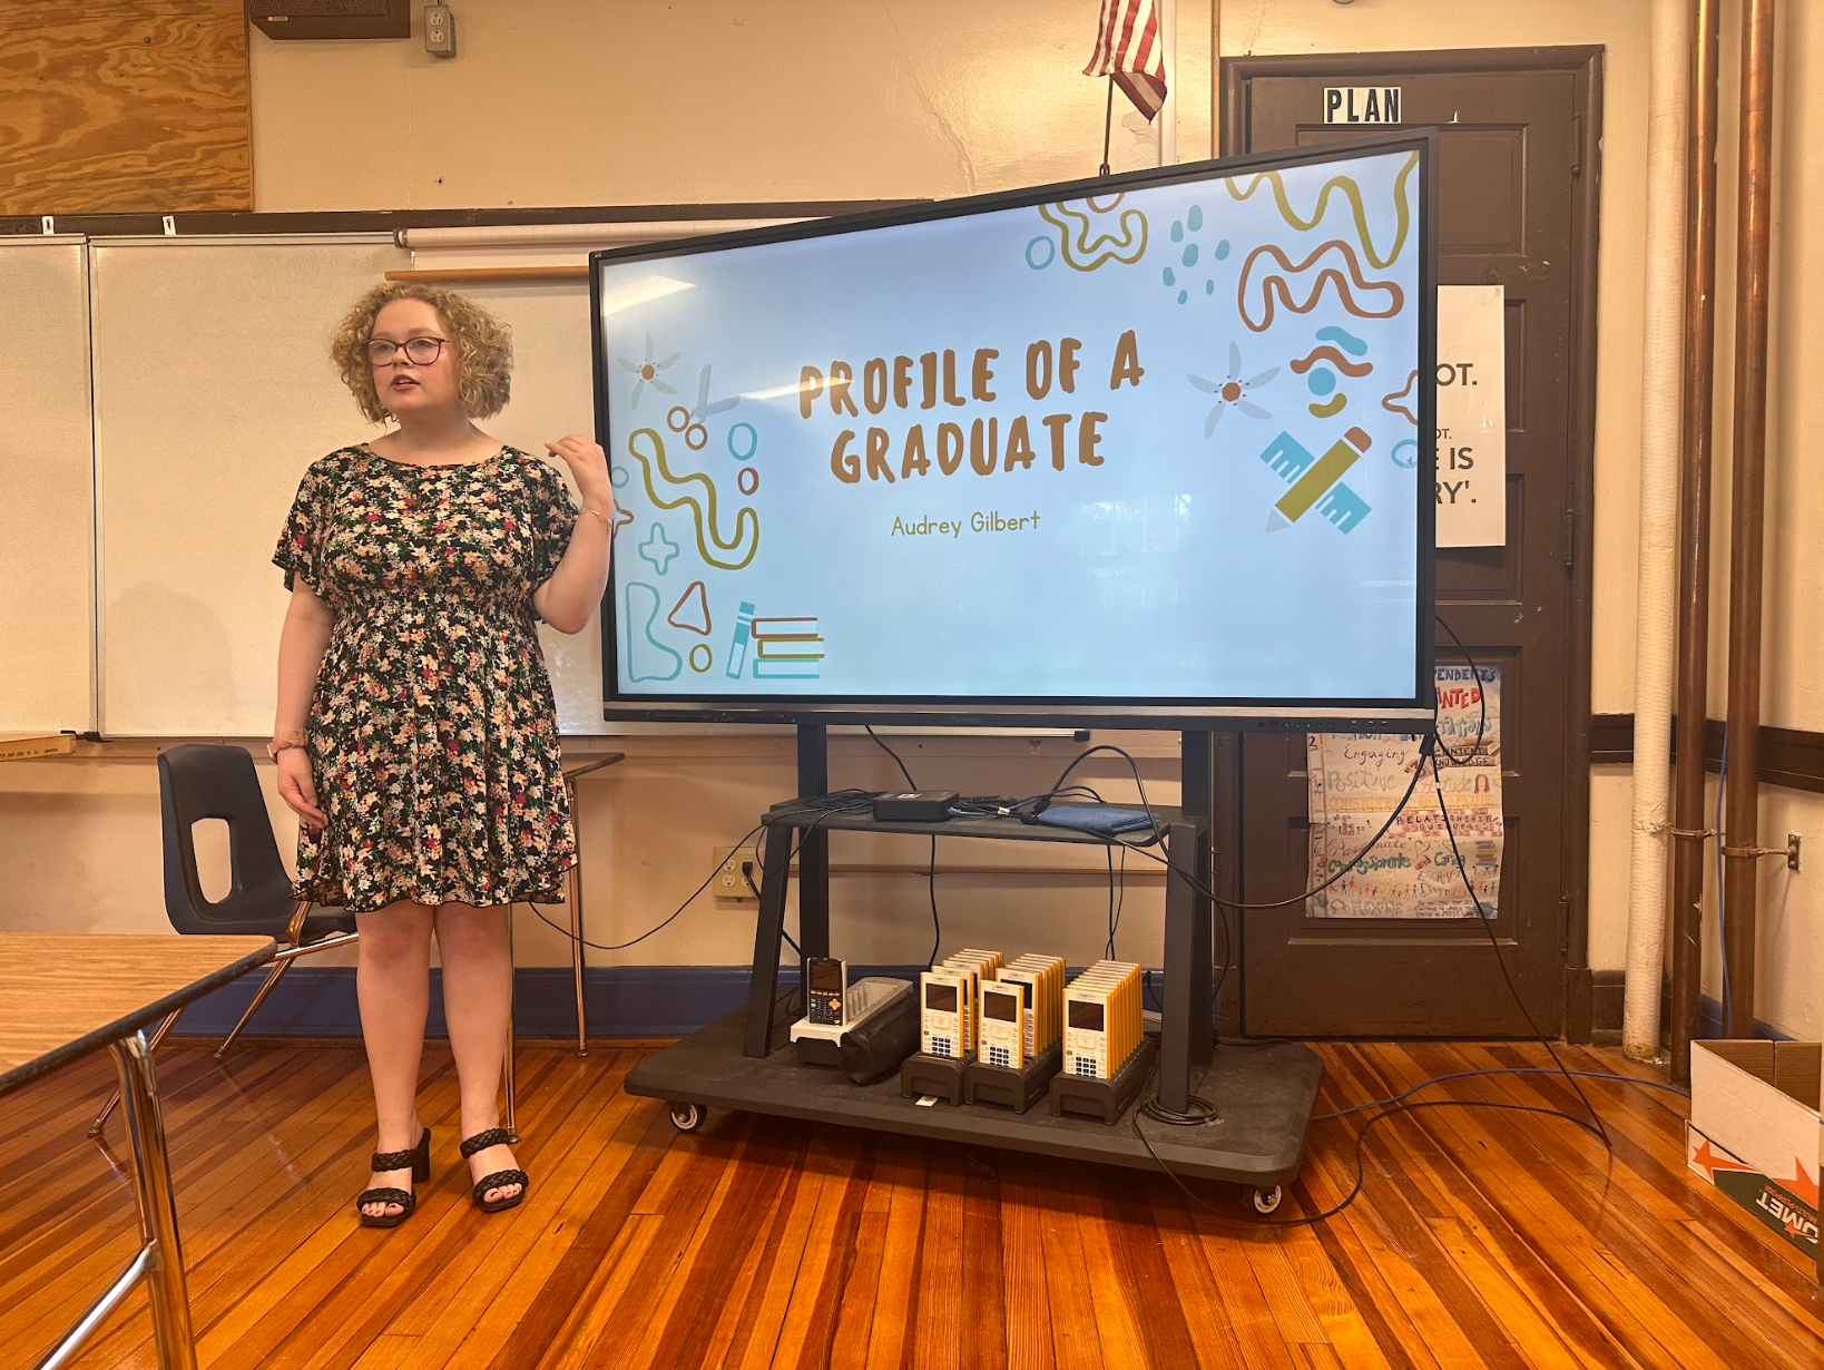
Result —
[{"label": "brown vertical pipe next to the cream-painted pipe", "polygon": [[1720,0],[1691,5],[1685,186],[1685,416],[1678,482],[1678,775],[1673,784],[1673,1080],[1691,1080],[1704,961],[1704,722],[1709,717],[1711,400],[1716,378],[1716,46]]}]

